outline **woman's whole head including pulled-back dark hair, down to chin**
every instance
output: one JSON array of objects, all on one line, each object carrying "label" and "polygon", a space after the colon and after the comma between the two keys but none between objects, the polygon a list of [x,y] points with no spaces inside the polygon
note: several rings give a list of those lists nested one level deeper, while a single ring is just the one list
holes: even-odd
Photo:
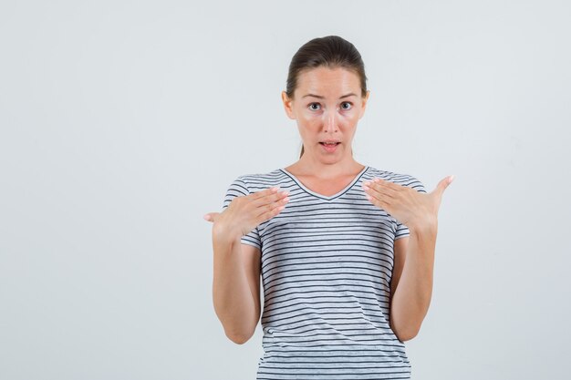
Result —
[{"label": "woman's whole head including pulled-back dark hair, down to chin", "polygon": [[[352,155],[351,141],[368,98],[365,65],[353,44],[325,36],[301,46],[282,91],[285,111],[296,119],[304,142],[300,158],[308,150],[329,163]],[[340,144],[327,149],[321,144],[325,140]]]}]

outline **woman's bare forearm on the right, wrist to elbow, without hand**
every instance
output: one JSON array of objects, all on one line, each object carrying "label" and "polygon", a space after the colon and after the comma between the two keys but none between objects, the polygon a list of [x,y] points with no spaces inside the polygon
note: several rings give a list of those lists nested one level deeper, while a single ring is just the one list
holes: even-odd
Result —
[{"label": "woman's bare forearm on the right, wrist to elbow, without hand", "polygon": [[437,229],[436,219],[409,226],[410,236],[395,241],[390,324],[403,342],[419,333],[431,303]]}]

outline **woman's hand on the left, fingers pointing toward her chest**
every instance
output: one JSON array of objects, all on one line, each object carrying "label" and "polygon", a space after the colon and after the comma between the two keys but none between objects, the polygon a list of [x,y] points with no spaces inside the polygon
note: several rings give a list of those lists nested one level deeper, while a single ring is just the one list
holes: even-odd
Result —
[{"label": "woman's hand on the left, fingers pointing toward her chest", "polygon": [[242,238],[260,223],[279,214],[289,201],[289,191],[273,187],[252,194],[235,197],[223,212],[208,212],[206,221],[213,222],[215,234]]}]

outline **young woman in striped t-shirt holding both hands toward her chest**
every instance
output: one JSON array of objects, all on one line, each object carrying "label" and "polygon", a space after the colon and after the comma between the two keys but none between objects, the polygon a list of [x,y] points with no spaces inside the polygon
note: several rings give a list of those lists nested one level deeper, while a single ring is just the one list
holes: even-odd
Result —
[{"label": "young woman in striped t-shirt holding both hands toward her chest", "polygon": [[[260,320],[258,379],[408,379],[404,342],[431,301],[437,214],[452,176],[420,180],[353,158],[367,90],[358,50],[315,38],[292,58],[285,112],[303,148],[292,165],[244,174],[213,222],[213,303],[244,344]],[[281,189],[281,190],[280,190]]]}]

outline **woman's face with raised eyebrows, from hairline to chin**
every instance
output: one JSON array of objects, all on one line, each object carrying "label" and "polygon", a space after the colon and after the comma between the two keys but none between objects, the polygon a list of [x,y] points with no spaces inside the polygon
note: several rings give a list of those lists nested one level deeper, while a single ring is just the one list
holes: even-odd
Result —
[{"label": "woman's face with raised eyebrows, from hairline to chin", "polygon": [[[369,98],[361,98],[358,75],[346,68],[317,67],[297,78],[294,98],[282,91],[285,112],[297,120],[304,143],[304,155],[324,163],[352,159],[351,142],[358,119]],[[325,141],[335,141],[327,146]]]}]

